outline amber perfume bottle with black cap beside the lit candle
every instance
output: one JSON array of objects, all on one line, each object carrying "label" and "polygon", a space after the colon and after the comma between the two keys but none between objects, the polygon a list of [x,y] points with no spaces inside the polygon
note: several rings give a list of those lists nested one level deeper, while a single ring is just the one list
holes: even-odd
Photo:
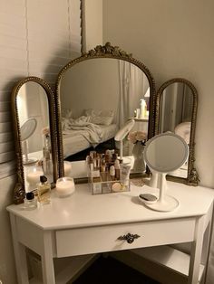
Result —
[{"label": "amber perfume bottle with black cap beside the lit candle", "polygon": [[51,185],[47,182],[45,175],[40,176],[38,185],[38,202],[40,204],[50,204],[51,202]]}]

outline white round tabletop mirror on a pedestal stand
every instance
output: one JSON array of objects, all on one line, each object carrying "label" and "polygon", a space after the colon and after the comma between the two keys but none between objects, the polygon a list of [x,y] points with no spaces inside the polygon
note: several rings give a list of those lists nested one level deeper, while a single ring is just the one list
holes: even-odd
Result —
[{"label": "white round tabletop mirror on a pedestal stand", "polygon": [[152,177],[156,179],[155,187],[159,187],[160,194],[156,203],[146,204],[155,211],[169,212],[179,206],[179,201],[173,196],[165,194],[166,175],[176,171],[189,156],[189,147],[185,140],[173,133],[163,133],[152,137],[144,149],[144,159],[151,169]]}]

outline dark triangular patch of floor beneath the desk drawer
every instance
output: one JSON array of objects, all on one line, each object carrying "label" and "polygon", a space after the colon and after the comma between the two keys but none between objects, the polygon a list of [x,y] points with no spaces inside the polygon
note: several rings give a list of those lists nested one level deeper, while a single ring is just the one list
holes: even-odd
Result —
[{"label": "dark triangular patch of floor beneath the desk drawer", "polygon": [[111,257],[100,257],[73,284],[159,284]]}]

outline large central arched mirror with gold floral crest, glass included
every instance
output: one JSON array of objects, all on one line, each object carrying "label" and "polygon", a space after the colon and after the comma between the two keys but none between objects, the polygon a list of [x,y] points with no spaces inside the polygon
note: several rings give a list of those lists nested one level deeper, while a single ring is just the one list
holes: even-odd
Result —
[{"label": "large central arched mirror with gold floral crest, glass included", "polygon": [[[141,99],[147,106],[143,114],[139,113]],[[151,71],[111,43],[96,46],[63,67],[56,83],[56,101],[60,176],[67,175],[69,164],[75,181],[85,182],[85,157],[92,150],[119,150],[114,137],[130,118],[135,121],[131,131],[142,129],[146,139],[154,135]],[[122,142],[122,155],[131,161],[133,145],[127,138]]]}]

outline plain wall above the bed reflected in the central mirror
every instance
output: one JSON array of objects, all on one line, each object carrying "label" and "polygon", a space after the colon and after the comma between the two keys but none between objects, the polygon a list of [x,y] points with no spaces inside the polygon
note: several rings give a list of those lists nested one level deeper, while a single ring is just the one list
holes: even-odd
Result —
[{"label": "plain wall above the bed reflected in the central mirror", "polygon": [[116,113],[119,83],[116,60],[99,58],[76,64],[63,75],[61,107],[72,109],[73,118],[83,116],[83,109],[112,109]]}]

